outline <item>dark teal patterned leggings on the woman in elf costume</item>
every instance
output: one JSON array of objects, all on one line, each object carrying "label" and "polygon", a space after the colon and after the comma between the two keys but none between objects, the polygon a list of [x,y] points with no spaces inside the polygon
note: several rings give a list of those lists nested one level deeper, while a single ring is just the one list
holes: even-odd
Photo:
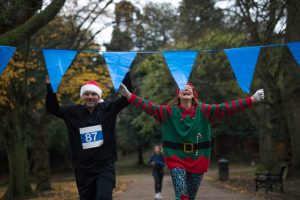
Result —
[{"label": "dark teal patterned leggings on the woman in elf costume", "polygon": [[190,200],[195,199],[203,177],[202,173],[191,173],[176,167],[171,170],[171,177],[176,200],[180,200],[182,194],[188,195]]}]

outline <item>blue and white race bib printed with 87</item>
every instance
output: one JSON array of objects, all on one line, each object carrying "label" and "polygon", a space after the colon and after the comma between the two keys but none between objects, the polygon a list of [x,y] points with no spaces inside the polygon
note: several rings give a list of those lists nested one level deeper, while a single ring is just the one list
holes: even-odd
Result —
[{"label": "blue and white race bib printed with 87", "polygon": [[99,147],[103,144],[102,126],[89,126],[80,128],[80,137],[83,149]]}]

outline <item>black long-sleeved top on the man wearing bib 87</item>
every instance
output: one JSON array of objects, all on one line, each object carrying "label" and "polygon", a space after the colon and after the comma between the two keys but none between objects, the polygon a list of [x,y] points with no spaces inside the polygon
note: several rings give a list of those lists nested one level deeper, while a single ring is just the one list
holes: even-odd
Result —
[{"label": "black long-sleeved top on the man wearing bib 87", "polygon": [[[124,85],[132,92],[130,74],[127,73]],[[91,169],[107,160],[115,161],[116,152],[116,119],[117,114],[129,103],[125,97],[99,103],[90,113],[84,105],[60,107],[56,94],[47,84],[46,111],[64,120],[69,133],[69,142],[75,168]],[[101,124],[103,144],[99,147],[83,149],[79,129]]]}]

